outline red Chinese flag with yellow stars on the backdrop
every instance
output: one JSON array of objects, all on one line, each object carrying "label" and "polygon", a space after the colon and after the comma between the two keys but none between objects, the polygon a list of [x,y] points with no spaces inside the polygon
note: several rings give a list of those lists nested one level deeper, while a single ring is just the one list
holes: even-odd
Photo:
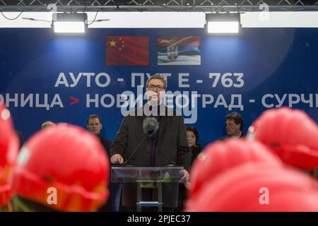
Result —
[{"label": "red Chinese flag with yellow stars on the backdrop", "polygon": [[149,37],[107,36],[106,65],[149,65]]}]

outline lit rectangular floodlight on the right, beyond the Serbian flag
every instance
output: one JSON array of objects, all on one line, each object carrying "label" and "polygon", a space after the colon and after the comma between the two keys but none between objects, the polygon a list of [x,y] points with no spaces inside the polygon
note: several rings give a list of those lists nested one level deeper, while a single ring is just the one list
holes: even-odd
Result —
[{"label": "lit rectangular floodlight on the right, beyond the Serbian flag", "polygon": [[207,13],[206,28],[208,33],[238,33],[240,13]]}]

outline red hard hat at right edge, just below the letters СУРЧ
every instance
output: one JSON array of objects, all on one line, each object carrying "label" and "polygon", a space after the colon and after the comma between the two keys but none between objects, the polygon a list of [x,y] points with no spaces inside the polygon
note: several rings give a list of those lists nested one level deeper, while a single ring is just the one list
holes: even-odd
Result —
[{"label": "red hard hat at right edge, just below the letters \u0421\u0423\u0420\u0427", "polygon": [[318,166],[318,126],[301,110],[269,109],[254,121],[247,136],[267,145],[288,165]]}]

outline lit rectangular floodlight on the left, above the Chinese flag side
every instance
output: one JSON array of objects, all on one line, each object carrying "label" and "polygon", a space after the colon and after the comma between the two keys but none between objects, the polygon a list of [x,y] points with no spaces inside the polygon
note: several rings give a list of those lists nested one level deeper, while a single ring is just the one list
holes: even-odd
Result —
[{"label": "lit rectangular floodlight on the left, above the Chinese flag side", "polygon": [[52,28],[56,33],[84,33],[87,28],[87,14],[53,13]]}]

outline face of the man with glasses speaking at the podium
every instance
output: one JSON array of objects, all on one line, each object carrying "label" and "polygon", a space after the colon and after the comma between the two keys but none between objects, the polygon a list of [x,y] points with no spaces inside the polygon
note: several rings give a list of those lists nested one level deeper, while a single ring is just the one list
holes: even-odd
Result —
[{"label": "face of the man with glasses speaking at the podium", "polygon": [[161,79],[153,78],[148,82],[146,88],[148,101],[159,105],[165,95],[165,86]]}]

